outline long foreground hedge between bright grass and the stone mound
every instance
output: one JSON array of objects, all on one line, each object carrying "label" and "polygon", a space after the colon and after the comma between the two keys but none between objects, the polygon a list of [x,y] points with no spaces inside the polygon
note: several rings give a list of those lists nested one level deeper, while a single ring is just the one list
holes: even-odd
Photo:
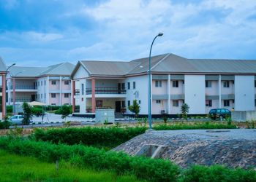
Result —
[{"label": "long foreground hedge between bright grass and the stone mound", "polygon": [[146,181],[177,182],[245,182],[256,181],[256,171],[252,168],[227,168],[221,165],[211,167],[192,165],[181,169],[167,159],[130,157],[115,151],[105,152],[91,146],[51,144],[43,141],[31,141],[27,138],[0,138],[0,149],[13,154],[37,157],[43,161],[55,162],[57,159],[71,161],[74,166],[91,166],[96,170],[112,170],[118,174],[132,173]]}]

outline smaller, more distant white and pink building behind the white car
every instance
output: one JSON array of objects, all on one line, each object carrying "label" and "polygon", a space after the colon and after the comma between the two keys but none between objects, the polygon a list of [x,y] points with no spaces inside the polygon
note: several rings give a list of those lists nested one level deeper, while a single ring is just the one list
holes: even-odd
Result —
[{"label": "smaller, more distant white and pink building behind the white car", "polygon": [[12,66],[7,74],[7,106],[24,101],[48,105],[72,104],[71,63],[48,67]]}]

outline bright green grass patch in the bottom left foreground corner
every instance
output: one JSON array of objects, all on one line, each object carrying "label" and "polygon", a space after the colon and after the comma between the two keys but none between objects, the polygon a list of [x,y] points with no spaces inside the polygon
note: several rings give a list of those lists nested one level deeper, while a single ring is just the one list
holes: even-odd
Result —
[{"label": "bright green grass patch in the bottom left foreground corner", "polygon": [[75,167],[72,162],[56,164],[34,157],[22,157],[0,150],[0,181],[138,181],[134,175],[97,172],[91,168]]}]

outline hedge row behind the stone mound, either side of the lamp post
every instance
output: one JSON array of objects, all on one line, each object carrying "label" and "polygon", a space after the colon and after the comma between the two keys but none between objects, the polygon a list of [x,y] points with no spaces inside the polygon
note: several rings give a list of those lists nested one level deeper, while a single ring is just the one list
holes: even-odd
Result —
[{"label": "hedge row behind the stone mound, either side of the lamp post", "polygon": [[[235,129],[235,125],[224,124],[201,124],[201,125],[173,125],[158,124],[153,127],[154,130],[195,130],[195,129]],[[148,130],[148,127],[83,127],[83,128],[62,128],[52,130],[37,129],[35,137],[42,141],[51,141],[52,143],[67,143],[74,145],[83,143],[86,146],[118,146],[125,143]]]}]

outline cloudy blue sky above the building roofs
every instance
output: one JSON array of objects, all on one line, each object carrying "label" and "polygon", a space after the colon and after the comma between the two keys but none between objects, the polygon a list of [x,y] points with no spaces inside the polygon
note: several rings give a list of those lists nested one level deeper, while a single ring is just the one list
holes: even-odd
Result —
[{"label": "cloudy blue sky above the building roofs", "polygon": [[0,0],[0,56],[10,66],[78,60],[256,60],[255,0]]}]

